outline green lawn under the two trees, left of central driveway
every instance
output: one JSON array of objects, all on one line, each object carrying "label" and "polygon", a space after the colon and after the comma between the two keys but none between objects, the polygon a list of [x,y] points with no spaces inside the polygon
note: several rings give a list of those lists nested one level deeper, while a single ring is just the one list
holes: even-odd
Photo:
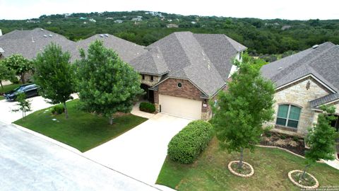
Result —
[{"label": "green lawn under the two trees, left of central driveway", "polygon": [[[25,122],[17,120],[14,123],[84,152],[118,137],[147,120],[129,114],[114,117],[114,124],[109,125],[106,117],[77,110],[77,103],[78,100],[67,103],[69,109],[69,119],[67,120],[64,114],[54,116],[50,110],[44,112],[47,110],[44,109],[25,117]],[[59,122],[53,121],[54,118]]]}]

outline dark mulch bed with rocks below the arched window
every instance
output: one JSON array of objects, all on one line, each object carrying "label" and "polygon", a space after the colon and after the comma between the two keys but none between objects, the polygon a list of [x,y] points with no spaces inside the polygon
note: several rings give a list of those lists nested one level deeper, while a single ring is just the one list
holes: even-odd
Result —
[{"label": "dark mulch bed with rocks below the arched window", "polygon": [[279,146],[301,156],[305,156],[305,151],[307,150],[303,138],[280,134],[278,132],[263,134],[260,144],[264,146]]}]

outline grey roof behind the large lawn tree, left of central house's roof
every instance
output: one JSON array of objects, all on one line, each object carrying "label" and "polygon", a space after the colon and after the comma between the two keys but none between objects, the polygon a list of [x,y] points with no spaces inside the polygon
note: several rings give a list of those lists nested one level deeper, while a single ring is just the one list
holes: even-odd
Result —
[{"label": "grey roof behind the large lawn tree, left of central house's roof", "polygon": [[[91,42],[95,40],[102,40],[104,42],[105,47],[111,48],[119,57],[121,57],[124,62],[130,62],[132,59],[140,56],[141,54],[147,52],[141,45],[136,45],[133,42],[129,42],[127,40],[121,39],[114,35],[107,34],[97,34],[92,37],[88,37],[85,40],[79,40],[76,42],[76,50],[83,48],[84,50],[88,49],[88,46]],[[80,54],[76,52],[76,58],[80,57]]]}]

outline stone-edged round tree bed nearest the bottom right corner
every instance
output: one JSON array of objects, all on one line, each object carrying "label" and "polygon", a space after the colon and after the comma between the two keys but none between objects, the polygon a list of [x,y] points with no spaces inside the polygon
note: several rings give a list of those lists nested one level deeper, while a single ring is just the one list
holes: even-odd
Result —
[{"label": "stone-edged round tree bed nearest the bottom right corner", "polygon": [[288,173],[288,178],[290,178],[293,184],[304,189],[315,189],[319,187],[319,182],[313,175],[305,173],[304,178],[301,178],[302,173],[302,170],[292,170]]}]

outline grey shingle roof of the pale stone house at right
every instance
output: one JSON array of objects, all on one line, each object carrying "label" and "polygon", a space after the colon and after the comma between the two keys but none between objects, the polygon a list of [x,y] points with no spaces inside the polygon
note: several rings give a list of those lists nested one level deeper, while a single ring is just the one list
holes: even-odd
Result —
[{"label": "grey shingle roof of the pale stone house at right", "polygon": [[333,91],[339,89],[339,47],[325,42],[319,47],[310,48],[266,64],[261,73],[271,79],[278,88],[287,83],[313,74]]}]

